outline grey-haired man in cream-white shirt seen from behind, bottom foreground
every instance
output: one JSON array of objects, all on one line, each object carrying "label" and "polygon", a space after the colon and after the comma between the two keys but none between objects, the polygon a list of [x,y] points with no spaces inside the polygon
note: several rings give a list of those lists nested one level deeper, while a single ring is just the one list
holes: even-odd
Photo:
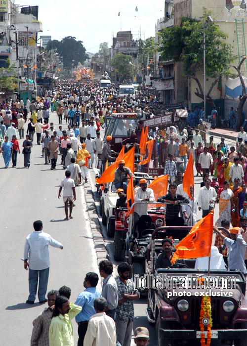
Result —
[{"label": "grey-haired man in cream-white shirt seen from behind, bottom foreground", "polygon": [[117,335],[114,320],[104,312],[106,299],[97,297],[93,301],[96,313],[89,319],[83,346],[116,346]]}]

